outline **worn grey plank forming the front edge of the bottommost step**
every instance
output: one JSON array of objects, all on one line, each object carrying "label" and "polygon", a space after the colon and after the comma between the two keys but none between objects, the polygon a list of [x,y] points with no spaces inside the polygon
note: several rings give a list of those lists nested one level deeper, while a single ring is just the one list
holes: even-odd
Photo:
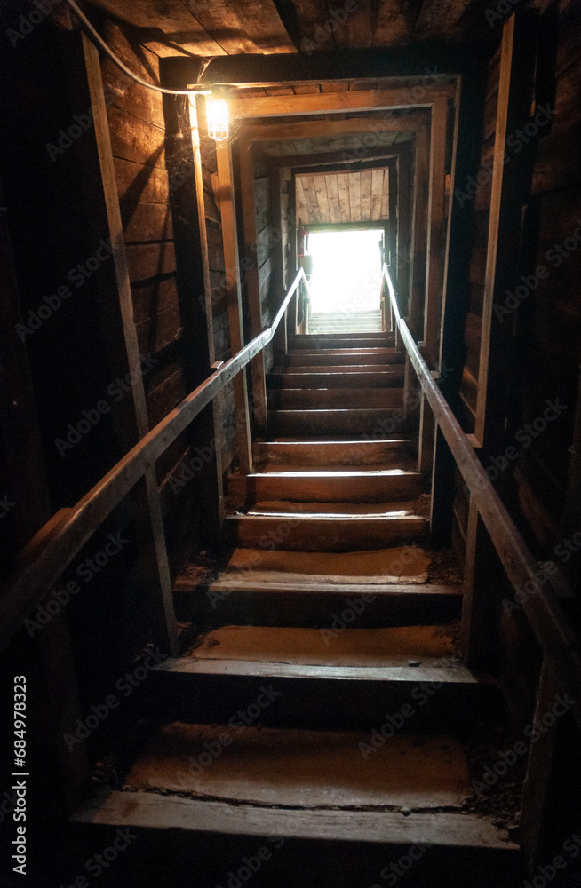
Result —
[{"label": "worn grey plank forming the front edge of the bottommost step", "polygon": [[77,823],[141,829],[179,829],[230,836],[281,836],[306,840],[433,844],[517,852],[505,830],[475,814],[341,811],[232,805],[99,789],[72,816]]}]

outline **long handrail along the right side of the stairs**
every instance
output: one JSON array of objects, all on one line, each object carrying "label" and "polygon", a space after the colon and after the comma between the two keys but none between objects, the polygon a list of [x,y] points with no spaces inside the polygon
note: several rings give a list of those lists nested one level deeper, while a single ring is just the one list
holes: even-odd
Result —
[{"label": "long handrail along the right side of the stairs", "polygon": [[[526,584],[533,583],[532,588],[535,591],[527,594],[527,597],[520,602],[521,607],[529,619],[543,653],[553,659],[563,690],[568,691],[578,702],[581,699],[581,647],[577,634],[562,610],[550,581],[539,583],[537,577],[541,574],[541,568],[537,559],[529,551],[505,504],[482,468],[466,433],[463,432],[448,401],[436,385],[426,361],[419,353],[418,345],[400,314],[394,285],[386,265],[383,266],[382,274],[389,291],[395,328],[399,330],[422,392],[434,413],[434,420],[442,430],[458,469],[466,481],[470,496],[474,498],[476,508],[513,588],[522,589]],[[578,705],[575,713],[577,722],[581,725]]]}]

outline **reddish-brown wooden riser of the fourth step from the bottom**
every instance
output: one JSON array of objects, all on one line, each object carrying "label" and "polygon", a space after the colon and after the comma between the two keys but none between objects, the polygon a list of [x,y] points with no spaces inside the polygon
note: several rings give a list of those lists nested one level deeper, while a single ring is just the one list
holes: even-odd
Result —
[{"label": "reddish-brown wooden riser of the fourth step from the bottom", "polygon": [[224,526],[227,541],[235,545],[292,551],[382,549],[427,533],[425,518],[397,511],[372,515],[273,511],[230,515]]}]

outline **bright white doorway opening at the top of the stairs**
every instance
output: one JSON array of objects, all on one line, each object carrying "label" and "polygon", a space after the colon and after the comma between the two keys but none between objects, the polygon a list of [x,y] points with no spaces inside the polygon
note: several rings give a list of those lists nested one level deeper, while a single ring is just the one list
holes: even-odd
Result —
[{"label": "bright white doorway opening at the top of the stairs", "polygon": [[308,332],[381,330],[384,229],[311,232],[308,250],[313,269]]}]

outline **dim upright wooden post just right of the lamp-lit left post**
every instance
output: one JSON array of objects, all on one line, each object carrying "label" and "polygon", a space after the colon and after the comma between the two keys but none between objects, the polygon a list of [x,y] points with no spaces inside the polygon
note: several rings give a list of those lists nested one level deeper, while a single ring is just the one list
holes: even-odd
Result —
[{"label": "dim upright wooden post just right of the lamp-lit left post", "polygon": [[[240,189],[243,211],[244,258],[246,260],[246,286],[251,313],[251,336],[262,332],[262,305],[260,300],[259,263],[257,256],[256,203],[254,195],[254,169],[252,164],[252,143],[247,139],[238,142],[240,164]],[[265,376],[264,352],[251,361],[252,402],[254,422],[260,436],[267,432],[267,380]]]}]

